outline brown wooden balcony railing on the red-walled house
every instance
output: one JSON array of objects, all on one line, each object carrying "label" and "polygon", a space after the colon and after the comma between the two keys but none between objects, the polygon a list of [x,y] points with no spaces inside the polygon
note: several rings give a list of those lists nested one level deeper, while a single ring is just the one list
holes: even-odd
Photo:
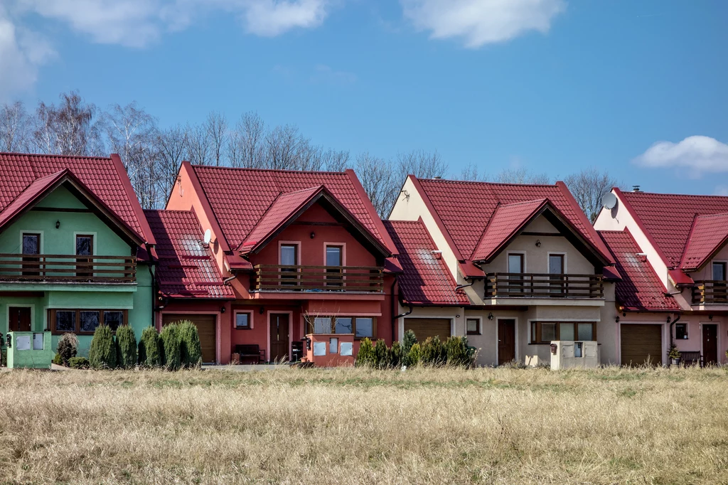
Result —
[{"label": "brown wooden balcony railing on the red-walled house", "polygon": [[381,267],[256,264],[255,291],[344,291],[381,293]]}]

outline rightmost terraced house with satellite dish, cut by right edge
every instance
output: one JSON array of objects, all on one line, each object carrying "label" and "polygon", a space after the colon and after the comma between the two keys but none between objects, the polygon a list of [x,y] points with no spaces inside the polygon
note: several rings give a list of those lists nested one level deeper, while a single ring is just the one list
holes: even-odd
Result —
[{"label": "rightmost terraced house with satellite dish, cut by right edge", "polygon": [[617,363],[725,362],[728,197],[613,189],[595,222],[617,259],[616,307],[605,320]]}]

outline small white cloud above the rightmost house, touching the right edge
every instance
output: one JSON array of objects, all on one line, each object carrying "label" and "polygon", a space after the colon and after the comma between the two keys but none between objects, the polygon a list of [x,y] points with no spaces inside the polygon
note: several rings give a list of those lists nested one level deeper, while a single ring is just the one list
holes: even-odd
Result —
[{"label": "small white cloud above the rightmost house, touching the right edge", "polygon": [[651,168],[686,168],[687,176],[728,172],[728,145],[709,136],[689,136],[679,143],[658,141],[634,159]]}]

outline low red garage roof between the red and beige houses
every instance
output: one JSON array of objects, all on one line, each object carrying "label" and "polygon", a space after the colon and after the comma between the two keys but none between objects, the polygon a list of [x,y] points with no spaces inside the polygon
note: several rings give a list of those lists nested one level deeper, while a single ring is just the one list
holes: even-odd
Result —
[{"label": "low red garage roof between the red and beige houses", "polygon": [[403,274],[398,277],[400,294],[411,304],[465,305],[469,304],[445,261],[435,257],[436,250],[430,233],[421,221],[384,221],[387,231],[397,245]]}]

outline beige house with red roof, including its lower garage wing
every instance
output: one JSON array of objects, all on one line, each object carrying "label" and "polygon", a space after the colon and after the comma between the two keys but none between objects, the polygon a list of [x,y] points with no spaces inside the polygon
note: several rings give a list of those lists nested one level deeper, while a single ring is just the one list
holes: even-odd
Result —
[{"label": "beige house with red roof, including its lower garage wing", "polygon": [[[601,342],[602,332],[609,333],[601,320],[605,305],[614,306],[606,297],[613,284],[605,284],[616,277],[614,259],[563,182],[490,184],[408,176],[389,219],[395,232],[397,225],[406,230],[396,221],[411,221],[429,241],[429,246],[398,244],[405,272],[400,339],[408,328],[420,340],[442,338],[449,330],[447,335],[467,335],[478,347],[480,365],[511,360],[537,365],[550,361],[553,340]],[[392,239],[397,244],[397,237]],[[403,257],[438,261],[449,288],[431,281],[427,261],[408,266]],[[408,294],[408,278],[413,288],[424,289]],[[431,292],[434,288],[438,291]],[[429,299],[429,293],[436,298]]]}]

